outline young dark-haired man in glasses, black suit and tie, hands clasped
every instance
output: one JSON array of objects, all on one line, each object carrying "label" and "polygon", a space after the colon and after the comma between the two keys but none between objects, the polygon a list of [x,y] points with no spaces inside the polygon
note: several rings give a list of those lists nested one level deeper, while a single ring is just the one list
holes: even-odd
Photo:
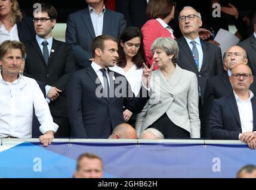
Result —
[{"label": "young dark-haired man in glasses, black suit and tie, hands clasped", "polygon": [[53,39],[51,32],[56,23],[57,11],[52,5],[41,5],[42,12],[35,12],[33,18],[36,37],[25,43],[27,58],[24,75],[44,83],[51,115],[60,126],[55,137],[69,137],[66,87],[75,71],[72,47]]}]

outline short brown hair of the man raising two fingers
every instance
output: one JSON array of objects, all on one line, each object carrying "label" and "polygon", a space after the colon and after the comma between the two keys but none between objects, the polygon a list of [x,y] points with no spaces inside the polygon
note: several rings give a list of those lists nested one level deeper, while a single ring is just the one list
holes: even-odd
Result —
[{"label": "short brown hair of the man raising two fingers", "polygon": [[116,41],[115,37],[112,37],[112,36],[109,36],[109,35],[106,35],[106,34],[95,37],[92,40],[92,43],[91,43],[91,55],[92,55],[92,58],[95,58],[95,49],[99,48],[102,52],[104,52],[104,49],[105,49],[104,42],[106,40],[111,40],[113,42],[118,43]]}]

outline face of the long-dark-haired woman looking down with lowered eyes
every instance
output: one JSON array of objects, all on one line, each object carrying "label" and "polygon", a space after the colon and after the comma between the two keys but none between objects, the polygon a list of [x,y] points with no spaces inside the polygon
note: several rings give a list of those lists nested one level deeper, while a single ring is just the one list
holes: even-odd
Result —
[{"label": "face of the long-dark-haired woman looking down with lowered eyes", "polygon": [[125,43],[121,42],[120,45],[124,47],[125,56],[127,58],[133,58],[137,55],[138,49],[140,49],[140,43],[140,37],[134,37]]}]

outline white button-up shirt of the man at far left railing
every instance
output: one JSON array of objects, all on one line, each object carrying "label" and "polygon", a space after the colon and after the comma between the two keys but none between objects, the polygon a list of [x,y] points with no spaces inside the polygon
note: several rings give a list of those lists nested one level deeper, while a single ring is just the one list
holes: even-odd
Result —
[{"label": "white button-up shirt of the man at far left railing", "polygon": [[49,106],[35,80],[20,75],[13,83],[0,74],[0,137],[32,137],[33,107],[42,134],[56,132]]}]

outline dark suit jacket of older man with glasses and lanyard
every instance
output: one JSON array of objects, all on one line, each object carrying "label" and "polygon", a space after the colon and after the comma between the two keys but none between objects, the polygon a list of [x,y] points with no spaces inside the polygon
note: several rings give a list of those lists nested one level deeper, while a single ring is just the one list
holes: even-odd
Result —
[{"label": "dark suit jacket of older man with glasses and lanyard", "polygon": [[177,64],[183,69],[195,72],[196,76],[198,77],[198,85],[201,88],[201,96],[203,97],[208,78],[224,72],[221,59],[221,49],[212,43],[201,40],[203,49],[203,63],[201,71],[198,71],[186,39],[184,37],[180,37],[176,40],[179,48]]}]

